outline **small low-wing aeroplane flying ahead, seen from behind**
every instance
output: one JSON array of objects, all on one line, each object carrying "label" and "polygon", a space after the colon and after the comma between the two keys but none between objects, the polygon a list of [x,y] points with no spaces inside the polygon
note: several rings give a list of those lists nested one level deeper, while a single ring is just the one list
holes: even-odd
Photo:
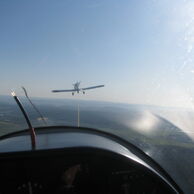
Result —
[{"label": "small low-wing aeroplane flying ahead, seen from behind", "polygon": [[76,82],[75,84],[73,84],[74,89],[70,89],[70,90],[52,90],[52,92],[72,92],[72,95],[74,95],[75,92],[77,92],[77,93],[83,92],[83,94],[85,94],[85,90],[91,90],[91,89],[95,89],[95,88],[104,87],[104,85],[98,85],[98,86],[91,86],[91,87],[87,87],[87,88],[80,88],[80,83],[81,82]]}]

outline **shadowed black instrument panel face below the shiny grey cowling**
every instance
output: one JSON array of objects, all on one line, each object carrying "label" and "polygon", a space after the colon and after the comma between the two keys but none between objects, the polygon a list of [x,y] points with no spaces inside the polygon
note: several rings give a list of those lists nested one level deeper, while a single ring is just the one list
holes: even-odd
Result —
[{"label": "shadowed black instrument panel face below the shiny grey cowling", "polygon": [[4,157],[0,170],[0,194],[173,193],[136,162],[95,149]]}]

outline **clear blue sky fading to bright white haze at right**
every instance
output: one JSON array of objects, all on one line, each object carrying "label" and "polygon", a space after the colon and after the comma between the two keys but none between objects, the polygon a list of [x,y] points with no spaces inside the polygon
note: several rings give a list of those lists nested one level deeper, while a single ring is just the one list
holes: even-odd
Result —
[{"label": "clear blue sky fading to bright white haze at right", "polygon": [[194,108],[193,0],[2,0],[0,95]]}]

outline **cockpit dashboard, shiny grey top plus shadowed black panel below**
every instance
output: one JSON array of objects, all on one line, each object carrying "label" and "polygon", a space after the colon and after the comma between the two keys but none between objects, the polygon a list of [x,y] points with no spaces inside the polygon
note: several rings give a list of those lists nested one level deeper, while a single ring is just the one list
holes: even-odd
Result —
[{"label": "cockpit dashboard, shiny grey top plus shadowed black panel below", "polygon": [[[0,154],[0,194],[180,193],[170,177],[115,137],[53,130],[40,130],[36,150],[18,151],[27,143],[26,131],[0,141],[9,150]],[[17,146],[17,137],[23,145]]]}]

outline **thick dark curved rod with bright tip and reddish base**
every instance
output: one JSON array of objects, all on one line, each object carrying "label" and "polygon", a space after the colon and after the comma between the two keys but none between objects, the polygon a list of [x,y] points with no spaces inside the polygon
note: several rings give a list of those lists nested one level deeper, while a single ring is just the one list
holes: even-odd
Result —
[{"label": "thick dark curved rod with bright tip and reddish base", "polygon": [[36,148],[36,133],[34,131],[34,128],[32,127],[32,124],[30,122],[30,119],[22,105],[22,103],[20,102],[19,98],[16,96],[15,92],[12,91],[11,95],[13,96],[13,98],[15,99],[17,105],[19,106],[22,114],[24,115],[24,118],[28,124],[29,130],[30,130],[30,136],[31,136],[31,145],[32,145],[32,149],[34,150]]}]

